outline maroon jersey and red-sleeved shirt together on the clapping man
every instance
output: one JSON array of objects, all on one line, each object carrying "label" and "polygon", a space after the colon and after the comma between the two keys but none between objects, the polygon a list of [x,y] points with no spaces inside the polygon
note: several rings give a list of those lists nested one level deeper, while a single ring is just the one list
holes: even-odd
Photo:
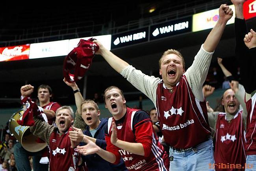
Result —
[{"label": "maroon jersey and red-sleeved shirt together on the clapping man", "polygon": [[[113,144],[111,144],[111,122],[113,118],[109,118],[108,121],[108,133],[106,134],[106,143],[107,143],[107,151],[115,154],[117,157],[116,161],[119,162],[120,157],[122,156],[125,166],[128,170],[131,171],[163,171],[169,170],[169,158],[167,153],[163,152],[163,146],[158,142],[157,136],[154,133],[154,129],[152,126],[152,122],[150,117],[147,115],[147,118],[144,120],[138,120],[134,122],[134,115],[138,111],[137,109],[126,108],[126,116],[122,126],[117,126],[117,138],[126,142],[140,142],[141,140],[137,137],[140,134],[144,137],[151,137],[151,146],[149,146],[149,150],[145,151],[145,156],[135,155],[123,149],[120,149]],[[144,112],[144,111],[143,111]],[[134,130],[136,129],[136,130]],[[143,143],[142,143],[143,144]],[[144,146],[143,146],[144,147]],[[144,148],[145,149],[145,148]],[[148,153],[148,154],[147,154]]]}]

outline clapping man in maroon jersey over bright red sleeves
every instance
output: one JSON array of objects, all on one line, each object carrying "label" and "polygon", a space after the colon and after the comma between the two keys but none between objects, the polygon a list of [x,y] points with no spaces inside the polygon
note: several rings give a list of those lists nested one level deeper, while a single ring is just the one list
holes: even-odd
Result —
[{"label": "clapping man in maroon jersey over bright red sleeves", "polygon": [[96,153],[113,164],[122,157],[131,171],[168,171],[168,155],[158,142],[148,113],[126,107],[122,91],[115,86],[105,90],[104,100],[113,116],[105,127],[106,150],[83,136],[87,145],[78,146],[78,152],[83,155]]}]

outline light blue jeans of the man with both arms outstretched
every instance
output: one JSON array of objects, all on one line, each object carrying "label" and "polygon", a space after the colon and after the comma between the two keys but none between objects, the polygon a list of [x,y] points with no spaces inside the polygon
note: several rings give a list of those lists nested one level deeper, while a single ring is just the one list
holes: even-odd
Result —
[{"label": "light blue jeans of the man with both arms outstretched", "polygon": [[208,140],[195,149],[178,152],[170,147],[170,171],[214,171],[213,142]]}]

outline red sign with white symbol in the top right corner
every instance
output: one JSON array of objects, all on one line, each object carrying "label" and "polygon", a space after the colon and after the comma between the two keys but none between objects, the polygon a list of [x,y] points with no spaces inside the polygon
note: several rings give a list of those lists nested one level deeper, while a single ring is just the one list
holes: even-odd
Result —
[{"label": "red sign with white symbol in the top right corner", "polygon": [[256,0],[247,0],[243,4],[243,16],[245,20],[256,17]]}]

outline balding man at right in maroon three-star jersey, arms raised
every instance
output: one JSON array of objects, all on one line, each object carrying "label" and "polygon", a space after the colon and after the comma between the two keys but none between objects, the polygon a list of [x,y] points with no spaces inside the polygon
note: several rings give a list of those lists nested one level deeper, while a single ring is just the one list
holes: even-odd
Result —
[{"label": "balding man at right in maroon three-star jersey, arms raised", "polygon": [[[226,70],[227,71],[227,70]],[[230,73],[231,75],[231,73]],[[247,110],[244,102],[244,87],[232,80],[232,89],[227,89],[222,97],[221,104],[224,111],[213,111],[208,106],[208,119],[210,127],[215,130],[215,165],[216,171],[223,170],[223,165],[229,166],[228,171],[243,171],[245,166],[245,130]],[[203,87],[204,96],[213,93],[213,87]],[[243,110],[239,109],[239,104]],[[234,149],[236,149],[234,151]],[[239,167],[241,166],[241,167]]]}]

